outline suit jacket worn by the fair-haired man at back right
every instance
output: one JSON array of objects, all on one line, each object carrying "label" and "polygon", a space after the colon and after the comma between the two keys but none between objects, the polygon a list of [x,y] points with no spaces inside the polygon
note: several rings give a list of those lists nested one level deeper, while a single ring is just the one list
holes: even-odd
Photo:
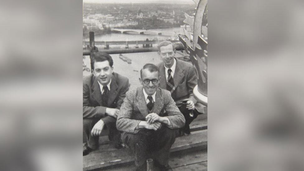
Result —
[{"label": "suit jacket worn by the fair-haired man at back right", "polygon": [[[175,58],[176,59],[176,58]],[[160,84],[159,87],[167,89],[167,77],[164,62],[157,65],[159,67]],[[193,96],[193,88],[197,85],[197,75],[192,64],[176,59],[176,67],[173,75],[173,82],[176,96],[174,101],[176,106],[181,106],[185,99],[192,100],[198,112],[204,113],[203,105],[197,103]]]}]

